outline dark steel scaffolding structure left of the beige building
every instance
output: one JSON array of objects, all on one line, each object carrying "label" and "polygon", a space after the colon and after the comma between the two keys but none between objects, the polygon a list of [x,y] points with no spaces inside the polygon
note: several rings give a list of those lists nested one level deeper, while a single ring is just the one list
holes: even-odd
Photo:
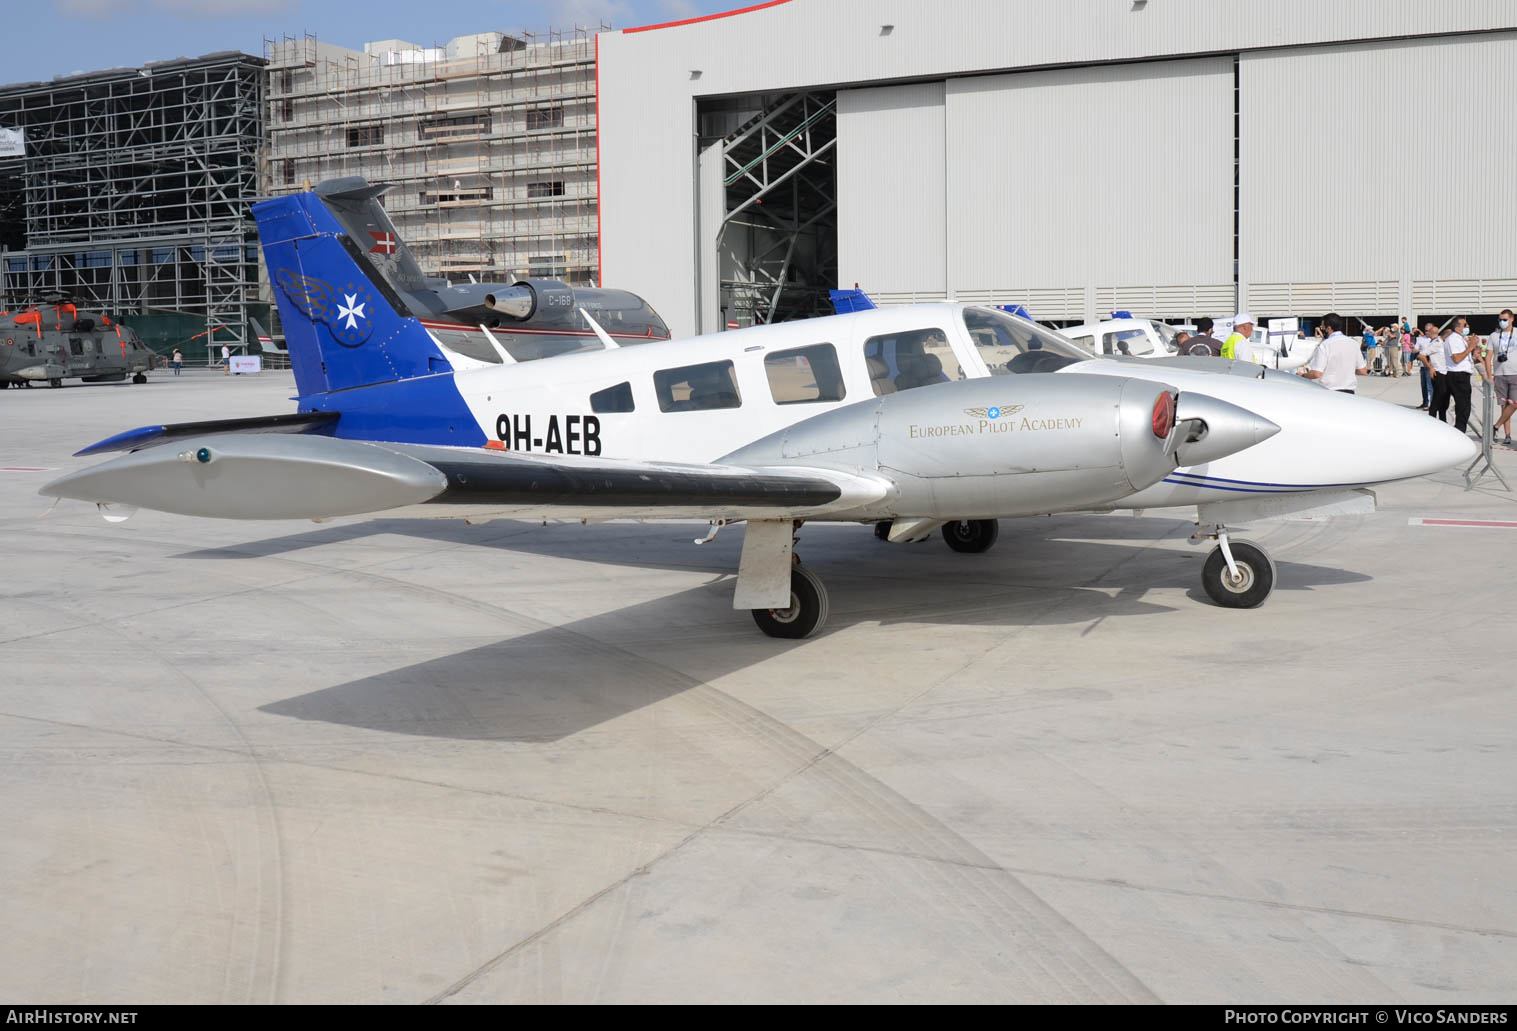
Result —
[{"label": "dark steel scaffolding structure left of the beige building", "polygon": [[[0,88],[0,302],[188,314],[246,346],[258,306],[264,61],[226,52]],[[170,344],[171,346],[171,344]]]}]

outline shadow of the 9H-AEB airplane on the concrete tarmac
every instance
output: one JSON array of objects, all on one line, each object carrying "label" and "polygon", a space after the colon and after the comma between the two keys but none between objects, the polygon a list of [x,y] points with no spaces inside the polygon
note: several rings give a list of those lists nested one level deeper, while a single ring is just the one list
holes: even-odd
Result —
[{"label": "shadow of the 9H-AEB airplane on the concrete tarmac", "polygon": [[[502,534],[502,526],[510,531]],[[833,611],[824,635],[868,623],[1059,626],[1174,611],[1144,600],[1144,594],[1153,587],[1195,584],[1204,550],[1144,544],[1171,540],[1180,526],[1177,520],[1130,517],[1006,520],[1000,546],[983,556],[953,553],[936,537],[900,546],[877,541],[868,528],[819,526],[802,532],[799,550],[828,585]],[[520,532],[523,528],[528,532]],[[376,520],[181,558],[255,558],[400,534],[718,576],[699,587],[563,626],[502,611],[502,631],[517,631],[505,640],[261,707],[275,716],[391,734],[554,741],[807,646],[763,637],[745,613],[731,610],[740,532],[718,538],[721,547],[713,543],[696,550],[689,543],[690,528],[681,525],[672,534],[669,529],[522,523],[467,528],[431,520]],[[1280,590],[1370,579],[1279,559],[1277,567]],[[1198,599],[1194,603],[1211,605],[1198,585],[1191,594]],[[710,647],[690,649],[695,637],[710,641]],[[680,669],[652,658],[675,643]]]}]

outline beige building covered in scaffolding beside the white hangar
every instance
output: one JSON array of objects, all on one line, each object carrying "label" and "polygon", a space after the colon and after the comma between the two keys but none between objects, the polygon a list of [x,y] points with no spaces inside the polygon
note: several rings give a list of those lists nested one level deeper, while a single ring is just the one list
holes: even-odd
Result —
[{"label": "beige building covered in scaffolding beside the white hangar", "polygon": [[381,203],[429,276],[595,284],[595,32],[265,38],[269,193],[391,183]]}]

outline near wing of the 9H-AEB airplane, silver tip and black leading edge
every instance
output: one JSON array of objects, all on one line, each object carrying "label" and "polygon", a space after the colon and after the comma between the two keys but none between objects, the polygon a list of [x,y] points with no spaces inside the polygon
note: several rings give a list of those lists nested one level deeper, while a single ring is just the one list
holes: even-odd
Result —
[{"label": "near wing of the 9H-AEB airplane, silver tip and black leading edge", "polygon": [[332,519],[426,505],[437,509],[414,514],[441,517],[463,508],[501,517],[772,520],[846,511],[887,490],[884,479],[834,470],[231,432],[133,450],[39,493],[215,519]]}]

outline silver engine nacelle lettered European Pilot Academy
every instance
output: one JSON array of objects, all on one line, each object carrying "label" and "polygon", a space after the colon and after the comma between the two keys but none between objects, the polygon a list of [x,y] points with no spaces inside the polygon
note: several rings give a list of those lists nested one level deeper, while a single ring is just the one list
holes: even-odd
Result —
[{"label": "silver engine nacelle lettered European Pilot Academy", "polygon": [[[1176,468],[1176,405],[1173,387],[1142,379],[968,379],[827,412],[722,461],[889,479],[894,490],[881,509],[859,519],[1000,519],[1100,508]],[[1248,426],[1247,441],[1241,435],[1233,450],[1279,429],[1224,406]],[[1221,409],[1211,411],[1215,421]],[[1208,444],[1224,446],[1223,434]]]}]

